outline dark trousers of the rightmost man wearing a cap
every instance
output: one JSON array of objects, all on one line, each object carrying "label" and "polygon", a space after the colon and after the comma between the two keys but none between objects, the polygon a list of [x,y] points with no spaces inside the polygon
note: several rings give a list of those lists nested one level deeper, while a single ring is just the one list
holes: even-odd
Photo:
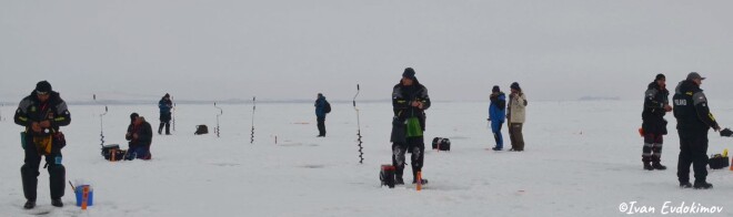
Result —
[{"label": "dark trousers of the rightmost man wearing a cap", "polygon": [[680,159],[677,178],[680,183],[690,182],[690,165],[695,172],[695,183],[705,182],[707,177],[707,131],[683,132],[680,134]]}]

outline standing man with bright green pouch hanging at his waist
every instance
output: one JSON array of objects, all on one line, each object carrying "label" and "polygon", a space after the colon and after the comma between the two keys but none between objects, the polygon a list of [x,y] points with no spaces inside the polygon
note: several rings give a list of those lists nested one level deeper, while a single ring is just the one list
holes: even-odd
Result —
[{"label": "standing man with bright green pouch hanging at his waist", "polygon": [[[392,136],[392,165],[395,167],[395,184],[404,185],[402,174],[405,152],[412,153],[412,183],[418,183],[418,172],[422,170],[425,143],[425,110],[430,107],[428,89],[420,84],[412,68],[404,69],[402,80],[392,91],[393,127],[400,131]],[[394,130],[393,130],[394,132]],[[422,179],[422,184],[426,179]]]}]

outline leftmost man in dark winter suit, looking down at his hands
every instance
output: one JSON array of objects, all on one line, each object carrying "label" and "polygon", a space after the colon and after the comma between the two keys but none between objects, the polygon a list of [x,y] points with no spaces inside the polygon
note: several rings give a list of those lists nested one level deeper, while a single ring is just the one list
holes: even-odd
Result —
[{"label": "leftmost man in dark winter suit, looking down at his hands", "polygon": [[61,164],[61,148],[66,145],[66,140],[59,126],[69,125],[71,122],[67,103],[51,89],[49,82],[41,81],[36,84],[36,90],[29,96],[20,101],[13,118],[16,124],[26,127],[23,132],[26,159],[20,168],[23,194],[28,199],[23,208],[36,207],[36,189],[42,156],[46,156],[49,170],[51,205],[62,207],[61,197],[66,190],[67,172]]}]

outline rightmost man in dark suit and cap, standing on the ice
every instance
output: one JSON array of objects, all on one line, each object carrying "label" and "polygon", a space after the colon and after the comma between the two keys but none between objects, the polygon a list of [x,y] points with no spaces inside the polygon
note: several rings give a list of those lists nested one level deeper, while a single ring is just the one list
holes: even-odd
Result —
[{"label": "rightmost man in dark suit and cap, standing on the ice", "polygon": [[680,187],[693,187],[690,184],[690,165],[695,172],[695,189],[713,187],[705,182],[707,177],[707,131],[712,127],[720,131],[715,117],[707,107],[707,97],[700,89],[705,78],[696,72],[687,74],[687,79],[680,82],[674,93],[674,117],[677,120],[677,134],[680,134],[680,159],[677,163],[677,178]]}]

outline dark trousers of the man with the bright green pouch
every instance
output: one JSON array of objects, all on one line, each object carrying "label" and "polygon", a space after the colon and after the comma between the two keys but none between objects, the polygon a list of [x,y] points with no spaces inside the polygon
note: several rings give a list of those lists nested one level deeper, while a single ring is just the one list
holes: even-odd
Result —
[{"label": "dark trousers of the man with the bright green pouch", "polygon": [[405,163],[405,153],[412,153],[411,164],[412,164],[412,180],[414,182],[418,178],[418,172],[422,170],[423,159],[425,157],[425,143],[423,137],[408,137],[406,144],[392,143],[392,165],[395,170],[394,174],[396,177],[402,178],[404,172]]}]

